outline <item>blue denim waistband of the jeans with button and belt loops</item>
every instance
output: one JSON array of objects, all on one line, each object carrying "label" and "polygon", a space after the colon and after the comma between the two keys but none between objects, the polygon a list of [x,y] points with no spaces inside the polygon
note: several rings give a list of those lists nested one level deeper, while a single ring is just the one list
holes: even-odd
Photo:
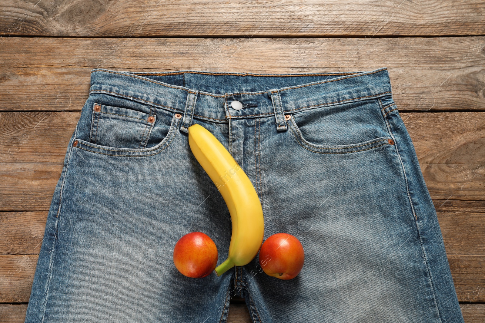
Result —
[{"label": "blue denim waistband of the jeans with button and belt loops", "polygon": [[[180,70],[119,72],[94,69],[90,92],[102,92],[215,122],[276,116],[391,93],[386,67],[367,72],[255,74]],[[237,100],[242,108],[231,108]],[[185,115],[184,115],[184,119]]]}]

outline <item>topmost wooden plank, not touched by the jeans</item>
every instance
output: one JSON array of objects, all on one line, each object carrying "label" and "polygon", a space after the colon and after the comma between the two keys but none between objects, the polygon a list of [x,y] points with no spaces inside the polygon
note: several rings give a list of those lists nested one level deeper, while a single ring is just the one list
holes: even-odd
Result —
[{"label": "topmost wooden plank, not touched by the jeans", "polygon": [[431,36],[483,34],[485,27],[478,0],[4,0],[1,11],[4,36]]}]

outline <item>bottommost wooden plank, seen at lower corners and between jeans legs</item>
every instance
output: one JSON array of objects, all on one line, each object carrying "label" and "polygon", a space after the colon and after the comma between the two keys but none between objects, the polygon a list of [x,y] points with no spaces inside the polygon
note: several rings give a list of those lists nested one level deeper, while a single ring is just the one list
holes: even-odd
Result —
[{"label": "bottommost wooden plank, seen at lower corners and between jeans legs", "polygon": [[[485,304],[460,304],[465,323],[483,323]],[[23,323],[27,304],[0,304],[0,323]],[[249,310],[244,303],[232,303],[227,323],[252,323]]]}]

